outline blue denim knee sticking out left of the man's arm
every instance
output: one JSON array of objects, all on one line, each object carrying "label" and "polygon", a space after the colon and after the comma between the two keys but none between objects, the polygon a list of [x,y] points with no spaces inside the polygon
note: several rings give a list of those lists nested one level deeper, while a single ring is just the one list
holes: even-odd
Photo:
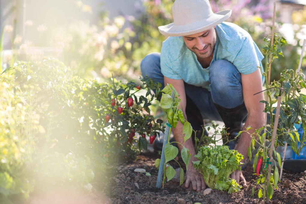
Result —
[{"label": "blue denim knee sticking out left of the man's arm", "polygon": [[148,76],[155,81],[158,81],[164,87],[164,76],[160,69],[160,53],[152,52],[144,57],[140,63],[142,76]]}]

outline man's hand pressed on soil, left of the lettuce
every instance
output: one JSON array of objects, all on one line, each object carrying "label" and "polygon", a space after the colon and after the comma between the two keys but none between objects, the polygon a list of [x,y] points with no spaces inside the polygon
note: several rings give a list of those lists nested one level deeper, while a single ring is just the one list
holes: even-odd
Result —
[{"label": "man's hand pressed on soil, left of the lettuce", "polygon": [[201,191],[206,188],[206,184],[202,174],[194,169],[193,166],[189,166],[186,172],[186,183],[185,187],[189,187],[189,183],[191,182],[192,188],[194,191]]}]

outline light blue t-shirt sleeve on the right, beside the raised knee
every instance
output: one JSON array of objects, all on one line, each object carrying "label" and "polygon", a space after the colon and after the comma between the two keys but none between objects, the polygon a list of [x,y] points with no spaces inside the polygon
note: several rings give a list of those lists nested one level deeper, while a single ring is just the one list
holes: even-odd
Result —
[{"label": "light blue t-shirt sleeve on the right, beside the raised knee", "polygon": [[261,66],[263,55],[250,37],[246,37],[237,52],[233,64],[241,74],[251,74]]}]

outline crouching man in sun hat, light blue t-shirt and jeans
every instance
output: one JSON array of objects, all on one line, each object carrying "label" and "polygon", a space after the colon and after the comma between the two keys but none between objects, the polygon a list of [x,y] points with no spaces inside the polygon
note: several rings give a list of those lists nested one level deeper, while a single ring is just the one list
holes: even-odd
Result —
[{"label": "crouching man in sun hat, light blue t-shirt and jeans", "polygon": [[[185,119],[192,121],[193,129],[198,128],[194,124],[203,125],[203,118],[219,120],[228,128],[229,139],[233,139],[241,128],[251,126],[238,143],[228,144],[244,156],[244,162],[251,134],[264,121],[264,104],[259,102],[263,94],[253,95],[262,91],[258,66],[262,66],[263,55],[245,30],[223,22],[231,10],[213,13],[208,0],[176,0],[172,13],[174,23],[159,27],[163,35],[170,37],[163,42],[160,54],[151,53],[142,60],[142,74],[163,86],[174,86]],[[185,187],[191,182],[193,190],[205,189],[203,176],[193,167],[196,153],[192,139],[184,142],[180,122],[173,133],[191,153]],[[233,172],[231,178],[246,185],[241,170]]]}]

